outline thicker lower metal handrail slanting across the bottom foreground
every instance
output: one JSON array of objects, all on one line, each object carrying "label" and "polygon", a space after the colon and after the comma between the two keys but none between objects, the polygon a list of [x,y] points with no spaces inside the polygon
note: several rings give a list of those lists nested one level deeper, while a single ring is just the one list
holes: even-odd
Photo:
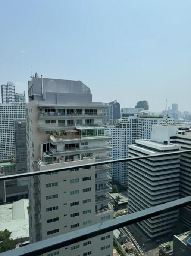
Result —
[{"label": "thicker lower metal handrail slanting across the bottom foreground", "polygon": [[107,220],[98,224],[78,229],[56,237],[48,238],[36,243],[26,245],[24,247],[9,250],[1,253],[1,256],[37,256],[62,247],[70,246],[71,244],[79,243],[83,240],[102,235],[115,229],[129,226],[133,223],[146,220],[159,214],[177,210],[191,204],[191,196],[157,205],[136,213],[131,213],[120,218]]}]

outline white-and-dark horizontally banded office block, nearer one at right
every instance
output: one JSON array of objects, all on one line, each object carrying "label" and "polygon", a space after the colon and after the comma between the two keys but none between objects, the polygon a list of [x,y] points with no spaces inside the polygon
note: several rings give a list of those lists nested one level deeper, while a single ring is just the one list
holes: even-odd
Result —
[{"label": "white-and-dark horizontally banded office block, nearer one at right", "polygon": [[[179,145],[151,140],[136,140],[128,146],[128,156],[145,156],[178,151]],[[179,198],[180,155],[152,157],[128,162],[128,210],[134,213]],[[137,223],[150,237],[173,229],[178,210]]]}]

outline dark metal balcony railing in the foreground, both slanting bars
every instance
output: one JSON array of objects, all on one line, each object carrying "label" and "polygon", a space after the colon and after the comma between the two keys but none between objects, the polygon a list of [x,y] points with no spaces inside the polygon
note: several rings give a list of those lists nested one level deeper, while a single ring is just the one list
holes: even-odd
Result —
[{"label": "dark metal balcony railing in the foreground, both slanting bars", "polygon": [[[182,150],[182,151],[170,151],[167,153],[159,153],[147,156],[139,156],[139,157],[131,157],[125,159],[116,159],[116,160],[107,160],[103,162],[94,162],[94,163],[83,163],[79,165],[67,166],[62,168],[54,168],[54,171],[62,172],[66,170],[70,170],[73,168],[83,168],[87,166],[99,166],[99,165],[108,165],[112,163],[118,162],[128,162],[138,159],[146,159],[146,158],[156,158],[159,156],[172,156],[172,155],[179,155],[181,153],[188,153],[191,150]],[[51,173],[52,169],[49,170],[42,170],[42,171],[35,171],[35,172],[26,172],[22,174],[14,174],[14,175],[6,175],[0,176],[0,182],[7,180],[7,179],[15,179],[21,177],[33,177],[35,175],[42,175]],[[110,186],[110,185],[109,185]],[[160,214],[169,213],[174,210],[178,210],[182,207],[191,205],[191,196],[187,196],[181,199],[176,199],[174,201],[167,202],[165,204],[160,204],[151,208],[147,208],[144,210],[137,211],[135,213],[127,214],[125,216],[121,216],[120,218],[107,220],[104,222],[97,223],[86,228],[78,229],[76,231],[68,232],[66,234],[61,234],[55,237],[51,237],[37,243],[32,243],[24,247],[16,248],[13,250],[9,250],[7,252],[1,253],[1,256],[38,256],[43,253],[48,253],[53,250],[60,249],[62,247],[71,246],[72,244],[79,243],[81,241],[96,237],[98,235],[105,234],[107,232],[113,231],[115,229],[122,228],[124,226],[129,226],[133,223],[138,223],[143,220],[159,216]],[[112,206],[110,203],[108,207],[99,210],[105,210],[110,208],[112,211]],[[98,214],[98,211],[97,211]]]}]

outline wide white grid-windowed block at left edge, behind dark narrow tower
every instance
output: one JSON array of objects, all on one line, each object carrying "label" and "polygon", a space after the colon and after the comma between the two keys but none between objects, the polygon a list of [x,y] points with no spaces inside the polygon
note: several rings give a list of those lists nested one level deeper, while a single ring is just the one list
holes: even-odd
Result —
[{"label": "wide white grid-windowed block at left edge, behind dark narrow tower", "polygon": [[14,120],[26,119],[25,103],[0,103],[0,161],[15,155]]}]

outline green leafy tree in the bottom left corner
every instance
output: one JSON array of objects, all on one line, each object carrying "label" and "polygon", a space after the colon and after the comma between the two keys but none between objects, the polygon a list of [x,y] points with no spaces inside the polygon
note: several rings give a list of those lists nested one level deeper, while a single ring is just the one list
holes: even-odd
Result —
[{"label": "green leafy tree in the bottom left corner", "polygon": [[8,250],[14,249],[16,246],[16,243],[13,239],[10,239],[10,235],[12,232],[10,232],[8,229],[5,229],[4,231],[0,231],[0,253],[6,252]]}]

